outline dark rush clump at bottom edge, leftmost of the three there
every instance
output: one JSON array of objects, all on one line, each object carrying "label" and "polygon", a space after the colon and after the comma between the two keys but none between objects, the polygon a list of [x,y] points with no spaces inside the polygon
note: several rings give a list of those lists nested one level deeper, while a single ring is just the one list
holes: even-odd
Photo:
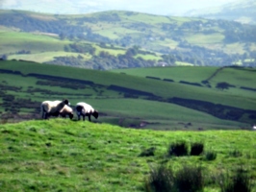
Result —
[{"label": "dark rush clump at bottom edge, leftmost of the three there", "polygon": [[148,180],[145,180],[145,191],[147,192],[166,192],[173,188],[173,172],[166,166],[160,165],[155,169],[151,169]]}]

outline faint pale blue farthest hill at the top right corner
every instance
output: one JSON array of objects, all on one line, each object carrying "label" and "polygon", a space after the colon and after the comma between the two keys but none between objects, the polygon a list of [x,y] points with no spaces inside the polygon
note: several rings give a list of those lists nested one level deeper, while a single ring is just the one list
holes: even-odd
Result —
[{"label": "faint pale blue farthest hill at the top right corner", "polygon": [[212,19],[227,19],[241,23],[256,24],[256,1],[237,1],[217,8],[193,10],[186,12],[185,15],[201,16]]}]

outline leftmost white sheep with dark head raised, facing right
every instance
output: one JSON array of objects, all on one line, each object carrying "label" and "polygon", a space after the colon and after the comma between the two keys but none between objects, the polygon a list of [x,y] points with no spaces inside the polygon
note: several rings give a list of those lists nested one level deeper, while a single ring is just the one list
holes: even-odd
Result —
[{"label": "leftmost white sheep with dark head raised, facing right", "polygon": [[64,101],[44,101],[41,103],[41,118],[47,119],[49,116],[59,116],[60,111],[68,105],[68,100]]}]

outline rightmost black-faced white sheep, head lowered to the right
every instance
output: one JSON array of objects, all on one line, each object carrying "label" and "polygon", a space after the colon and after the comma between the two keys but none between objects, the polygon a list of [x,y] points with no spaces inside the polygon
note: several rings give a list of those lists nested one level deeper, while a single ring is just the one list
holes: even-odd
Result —
[{"label": "rightmost black-faced white sheep, head lowered to the right", "polygon": [[83,116],[84,121],[85,121],[86,116],[89,117],[89,121],[90,121],[90,115],[92,115],[96,119],[99,116],[99,113],[97,110],[95,110],[89,104],[86,104],[84,102],[80,102],[80,103],[76,104],[76,112],[77,112],[78,120],[80,120],[81,115]]}]

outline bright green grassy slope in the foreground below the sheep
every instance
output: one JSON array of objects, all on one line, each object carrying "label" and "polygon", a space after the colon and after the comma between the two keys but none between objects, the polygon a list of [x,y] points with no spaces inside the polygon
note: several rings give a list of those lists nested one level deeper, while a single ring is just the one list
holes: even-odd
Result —
[{"label": "bright green grassy slope in the foreground below the sheep", "polygon": [[[0,125],[1,191],[144,191],[150,169],[201,166],[204,191],[243,166],[256,179],[255,132],[156,132],[68,119]],[[201,156],[167,156],[169,145],[204,144]],[[151,156],[143,156],[154,148]],[[216,159],[207,160],[207,153]],[[253,185],[255,190],[255,185]]]}]

